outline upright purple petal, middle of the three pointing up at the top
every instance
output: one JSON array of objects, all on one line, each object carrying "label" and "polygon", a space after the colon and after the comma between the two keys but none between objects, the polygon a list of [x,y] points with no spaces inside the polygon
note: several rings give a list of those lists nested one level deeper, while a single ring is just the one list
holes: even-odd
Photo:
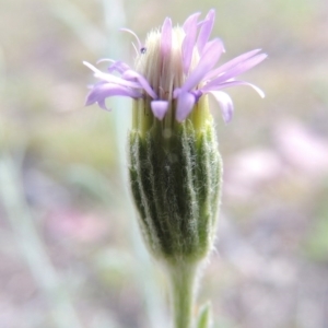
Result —
[{"label": "upright purple petal, middle of the three pointing up at the top", "polygon": [[188,73],[189,68],[190,68],[190,63],[191,63],[191,59],[192,59],[192,52],[194,52],[194,47],[195,47],[195,43],[196,43],[196,36],[197,36],[197,22],[198,22],[198,17],[199,17],[200,13],[195,13],[191,16],[189,16],[183,28],[186,33],[186,36],[184,38],[183,42],[183,66],[184,66],[184,72],[185,74]]}]

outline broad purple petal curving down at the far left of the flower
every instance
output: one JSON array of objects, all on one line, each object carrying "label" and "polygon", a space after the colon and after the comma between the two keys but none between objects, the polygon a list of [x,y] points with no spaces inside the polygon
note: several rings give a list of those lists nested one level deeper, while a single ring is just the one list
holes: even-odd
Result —
[{"label": "broad purple petal curving down at the far left of the flower", "polygon": [[132,98],[139,98],[142,96],[140,92],[126,86],[110,84],[110,83],[97,84],[89,93],[85,101],[85,105],[89,106],[96,102],[101,102],[106,97],[116,96],[116,95],[128,96]]}]

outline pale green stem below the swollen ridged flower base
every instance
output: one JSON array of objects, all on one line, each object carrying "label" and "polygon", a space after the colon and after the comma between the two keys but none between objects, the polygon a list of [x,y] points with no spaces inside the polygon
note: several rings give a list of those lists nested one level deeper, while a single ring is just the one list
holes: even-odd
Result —
[{"label": "pale green stem below the swollen ridged flower base", "polygon": [[174,328],[191,328],[197,266],[178,265],[171,268]]}]

